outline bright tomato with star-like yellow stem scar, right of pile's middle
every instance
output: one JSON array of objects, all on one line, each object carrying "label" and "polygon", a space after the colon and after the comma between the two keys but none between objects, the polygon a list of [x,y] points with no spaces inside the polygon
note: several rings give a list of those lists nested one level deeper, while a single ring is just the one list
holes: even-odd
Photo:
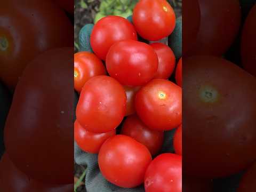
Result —
[{"label": "bright tomato with star-like yellow stem scar, right of pile's middle", "polygon": [[140,119],[158,131],[171,130],[181,124],[181,87],[165,79],[153,79],[135,98]]}]

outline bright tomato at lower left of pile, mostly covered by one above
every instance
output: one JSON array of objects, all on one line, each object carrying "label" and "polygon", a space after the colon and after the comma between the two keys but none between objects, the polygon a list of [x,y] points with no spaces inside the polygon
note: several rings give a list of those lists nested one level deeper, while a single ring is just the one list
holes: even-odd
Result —
[{"label": "bright tomato at lower left of pile, mostly covered by one above", "polygon": [[116,130],[107,133],[92,133],[84,129],[78,121],[74,124],[74,138],[77,145],[87,153],[98,154],[103,142],[114,136]]}]

